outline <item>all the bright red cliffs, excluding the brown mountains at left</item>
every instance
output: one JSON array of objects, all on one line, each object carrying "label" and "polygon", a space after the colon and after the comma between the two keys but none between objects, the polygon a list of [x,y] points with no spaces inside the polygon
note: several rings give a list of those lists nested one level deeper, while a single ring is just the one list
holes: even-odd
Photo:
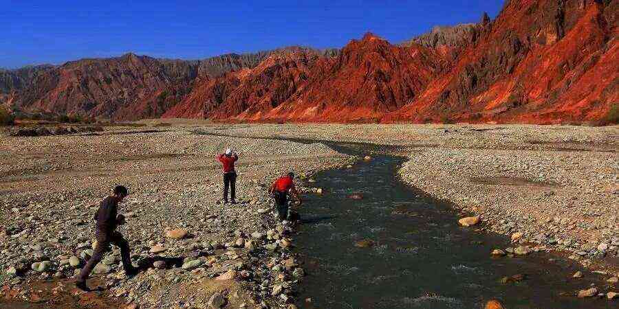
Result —
[{"label": "all the bright red cliffs, excluding the brown mountains at left", "polygon": [[[279,74],[243,71],[260,77],[246,80],[252,87],[230,92],[235,104],[201,97],[212,104],[199,117],[543,124],[602,119],[618,102],[617,11],[617,1],[513,0],[495,21],[484,14],[477,24],[438,27],[399,46],[367,34],[335,58],[305,62],[303,78],[269,61],[260,70],[273,65]],[[214,85],[241,83],[228,76]],[[184,106],[202,104],[192,100]]]}]

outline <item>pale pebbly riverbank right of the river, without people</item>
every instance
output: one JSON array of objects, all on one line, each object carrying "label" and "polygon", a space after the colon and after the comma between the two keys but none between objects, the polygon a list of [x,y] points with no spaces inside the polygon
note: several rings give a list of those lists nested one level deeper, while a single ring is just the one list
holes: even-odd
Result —
[{"label": "pale pebbly riverbank right of the river, without people", "polygon": [[514,236],[514,247],[561,252],[611,281],[619,275],[619,126],[263,125],[220,133],[384,146],[408,157],[406,183],[463,216],[481,216],[481,229]]}]

